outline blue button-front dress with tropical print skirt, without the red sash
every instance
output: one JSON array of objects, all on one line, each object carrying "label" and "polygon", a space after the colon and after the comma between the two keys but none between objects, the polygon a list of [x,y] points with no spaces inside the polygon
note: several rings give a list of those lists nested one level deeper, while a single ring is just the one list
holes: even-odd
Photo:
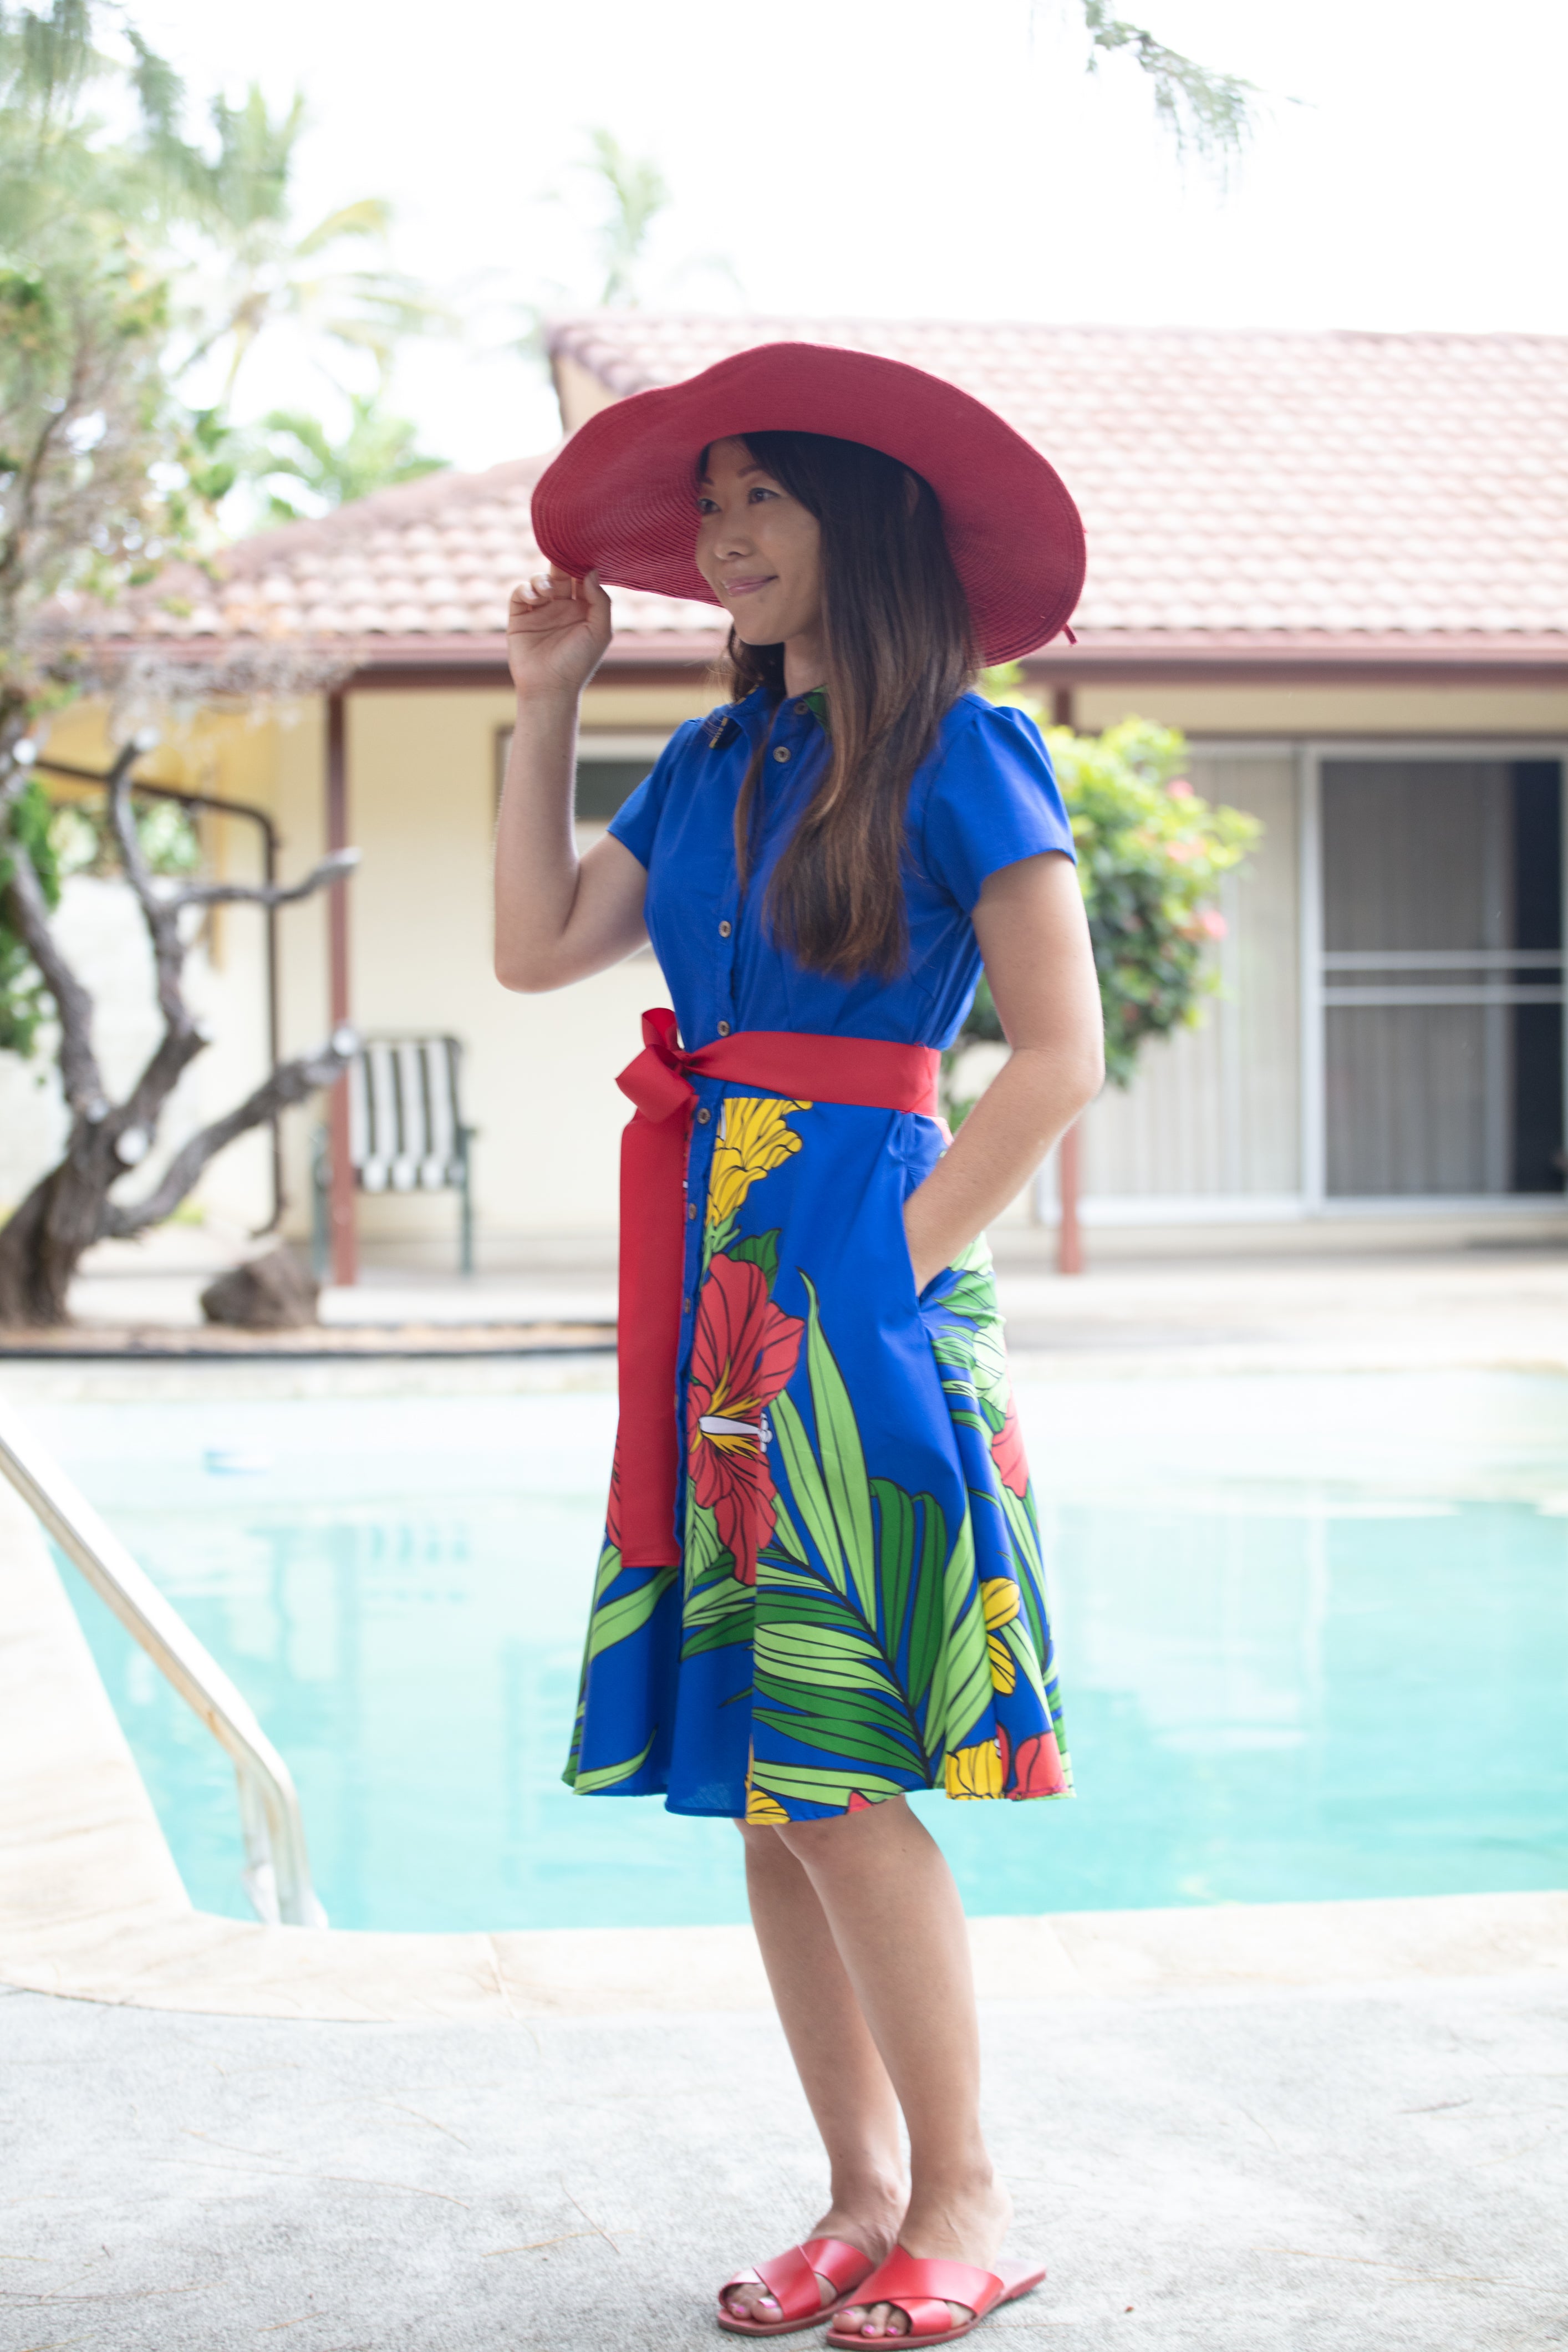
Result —
[{"label": "blue button-front dress with tropical print skirt, without the red sash", "polygon": [[[733,811],[759,739],[743,891]],[[980,978],[985,877],[1072,856],[1039,731],[966,694],[910,786],[907,969],[806,971],[762,906],[827,755],[811,703],[759,691],[682,727],[609,828],[646,866],[686,1047],[743,1030],[947,1047]],[[903,1204],[943,1129],[693,1087],[682,1566],[623,1566],[611,1484],[567,1780],[757,1823],[919,1788],[1070,1795],[990,1251],[919,1294],[910,1268]]]}]

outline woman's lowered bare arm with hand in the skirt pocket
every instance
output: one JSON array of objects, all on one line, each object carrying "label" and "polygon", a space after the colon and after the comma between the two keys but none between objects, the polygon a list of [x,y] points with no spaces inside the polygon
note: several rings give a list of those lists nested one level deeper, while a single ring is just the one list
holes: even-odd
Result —
[{"label": "woman's lowered bare arm with hand in the skirt pocket", "polygon": [[917,1289],[1006,1209],[1105,1080],[1100,983],[1072,861],[1048,851],[1001,866],[973,922],[1013,1051],[903,1207]]}]

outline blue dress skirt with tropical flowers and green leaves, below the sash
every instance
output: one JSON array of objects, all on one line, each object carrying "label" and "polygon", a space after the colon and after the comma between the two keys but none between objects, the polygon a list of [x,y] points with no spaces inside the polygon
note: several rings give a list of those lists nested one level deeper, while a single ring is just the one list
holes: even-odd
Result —
[{"label": "blue dress skirt with tropical flowers and green leaves, below the sash", "polygon": [[703,1108],[684,1557],[623,1569],[611,1486],[567,1778],[773,1825],[922,1788],[1070,1795],[985,1244],[910,1287],[931,1122]]}]

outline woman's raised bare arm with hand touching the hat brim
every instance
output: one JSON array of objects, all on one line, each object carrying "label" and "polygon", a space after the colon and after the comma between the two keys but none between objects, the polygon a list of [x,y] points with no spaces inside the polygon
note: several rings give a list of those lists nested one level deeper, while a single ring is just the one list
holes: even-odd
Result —
[{"label": "woman's raised bare arm with hand touching the hat brim", "polygon": [[505,654],[517,724],[496,823],[496,978],[543,990],[583,981],[646,941],[646,875],[611,835],[576,854],[576,713],[609,644],[609,597],[590,572],[512,588]]}]

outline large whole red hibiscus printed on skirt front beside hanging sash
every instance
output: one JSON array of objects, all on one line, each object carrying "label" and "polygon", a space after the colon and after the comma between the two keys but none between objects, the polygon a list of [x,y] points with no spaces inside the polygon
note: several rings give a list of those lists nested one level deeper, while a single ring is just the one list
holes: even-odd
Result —
[{"label": "large whole red hibiscus printed on skirt front beside hanging sash", "polygon": [[757,1583],[757,1550],[773,1531],[762,1409],[795,1371],[804,1331],[773,1305],[759,1265],[712,1258],[691,1338],[686,1461],[743,1585]]}]

